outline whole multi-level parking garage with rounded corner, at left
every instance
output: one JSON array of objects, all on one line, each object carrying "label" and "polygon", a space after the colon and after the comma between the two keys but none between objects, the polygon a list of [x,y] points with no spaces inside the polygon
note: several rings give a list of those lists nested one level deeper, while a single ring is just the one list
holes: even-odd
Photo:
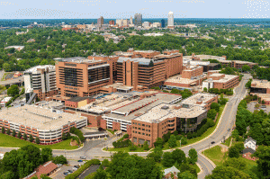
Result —
[{"label": "whole multi-level parking garage with rounded corner, at left", "polygon": [[40,144],[53,144],[62,140],[62,133],[71,127],[82,128],[87,119],[61,110],[43,108],[38,105],[11,107],[0,112],[0,127],[19,131],[28,137],[38,137]]}]

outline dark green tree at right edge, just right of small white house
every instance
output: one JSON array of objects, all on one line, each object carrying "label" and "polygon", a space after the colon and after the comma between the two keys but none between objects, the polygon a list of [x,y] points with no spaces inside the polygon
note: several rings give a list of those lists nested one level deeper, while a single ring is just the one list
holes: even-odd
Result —
[{"label": "dark green tree at right edge, just right of small white house", "polygon": [[265,178],[270,177],[270,147],[269,146],[259,146],[257,151],[254,154],[255,157],[258,157],[257,160],[257,170]]}]

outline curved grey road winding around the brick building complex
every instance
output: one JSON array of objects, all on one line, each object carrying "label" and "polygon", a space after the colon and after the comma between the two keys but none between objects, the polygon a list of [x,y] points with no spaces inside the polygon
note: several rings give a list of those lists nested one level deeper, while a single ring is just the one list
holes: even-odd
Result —
[{"label": "curved grey road winding around the brick building complex", "polygon": [[[220,117],[220,122],[218,127],[212,134],[201,141],[194,143],[192,145],[181,148],[184,153],[187,155],[190,148],[195,148],[198,152],[198,164],[202,167],[202,172],[198,175],[198,178],[204,178],[205,175],[210,175],[211,171],[214,169],[214,164],[208,158],[202,156],[202,151],[207,148],[212,148],[221,143],[221,141],[227,139],[231,133],[231,129],[234,125],[236,113],[238,109],[238,103],[245,97],[247,90],[245,85],[250,76],[245,75],[243,80],[240,82],[238,87],[234,90],[234,95],[230,97],[229,102],[226,104],[225,109]],[[229,130],[230,129],[230,130]],[[110,157],[110,152],[104,152],[102,148],[107,145],[112,144],[112,141],[117,140],[117,138],[107,139],[107,140],[91,140],[85,141],[85,146],[77,150],[53,150],[53,155],[64,155],[68,159],[78,159],[81,156],[89,158],[94,157]],[[211,145],[211,141],[214,141],[215,144]],[[0,148],[2,152],[8,152],[14,148]],[[146,157],[148,152],[137,153],[141,157]]]}]

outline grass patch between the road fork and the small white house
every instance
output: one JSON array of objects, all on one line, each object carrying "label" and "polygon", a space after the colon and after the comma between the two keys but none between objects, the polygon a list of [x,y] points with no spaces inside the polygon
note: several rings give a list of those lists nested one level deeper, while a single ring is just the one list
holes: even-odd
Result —
[{"label": "grass patch between the road fork and the small white house", "polygon": [[216,166],[222,166],[222,163],[226,160],[227,158],[227,153],[221,151],[220,146],[215,146],[213,148],[204,150],[202,152],[204,156],[208,157],[211,159],[211,161],[216,165]]}]

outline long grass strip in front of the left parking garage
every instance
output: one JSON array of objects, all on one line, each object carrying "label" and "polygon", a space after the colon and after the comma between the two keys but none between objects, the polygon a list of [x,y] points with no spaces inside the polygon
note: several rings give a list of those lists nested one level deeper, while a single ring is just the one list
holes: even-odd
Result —
[{"label": "long grass strip in front of the left parking garage", "polygon": [[42,146],[42,145],[33,144],[30,141],[17,139],[12,136],[8,136],[8,135],[0,133],[0,147],[5,147],[5,148],[22,148],[23,146],[31,144],[38,148],[67,149],[67,150],[76,149],[77,148],[76,146],[72,147],[69,145],[70,140],[71,139],[67,139],[57,144]]}]

